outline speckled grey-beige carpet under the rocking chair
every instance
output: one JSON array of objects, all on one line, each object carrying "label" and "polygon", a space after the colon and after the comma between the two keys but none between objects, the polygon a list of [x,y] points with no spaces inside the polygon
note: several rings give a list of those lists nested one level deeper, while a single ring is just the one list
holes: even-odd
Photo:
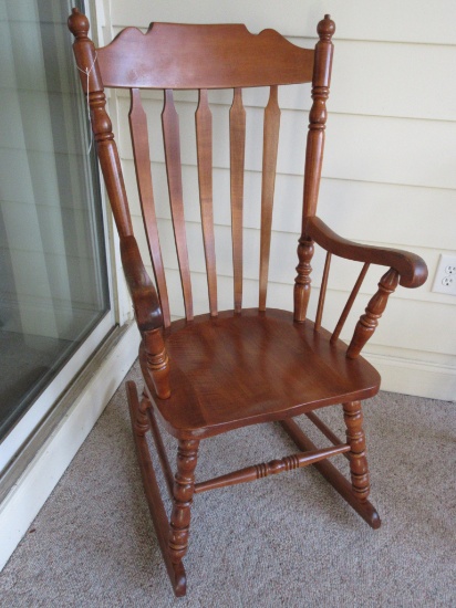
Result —
[{"label": "speckled grey-beige carpet under the rocking chair", "polygon": [[[325,419],[342,431],[340,408]],[[121,387],[0,575],[0,605],[456,606],[456,403],[383,392],[366,403],[365,429],[379,531],[310,469],[201,494],[188,593],[176,600]],[[279,427],[253,427],[203,442],[198,471],[204,479],[293,451]]]}]

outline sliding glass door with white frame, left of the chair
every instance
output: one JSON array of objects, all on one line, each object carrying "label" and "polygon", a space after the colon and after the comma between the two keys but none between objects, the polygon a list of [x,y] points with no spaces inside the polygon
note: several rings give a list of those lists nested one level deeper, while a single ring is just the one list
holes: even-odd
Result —
[{"label": "sliding glass door with white frame, left of the chair", "polygon": [[0,0],[0,471],[114,324],[75,4]]}]

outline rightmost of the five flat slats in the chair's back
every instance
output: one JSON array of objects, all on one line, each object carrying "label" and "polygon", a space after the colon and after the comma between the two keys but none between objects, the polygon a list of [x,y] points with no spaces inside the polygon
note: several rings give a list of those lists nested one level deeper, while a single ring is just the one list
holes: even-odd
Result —
[{"label": "rightmost of the five flat slats in the chair's back", "polygon": [[271,86],[265,108],[263,155],[261,182],[261,240],[260,240],[260,293],[259,310],[266,310],[269,254],[271,249],[272,206],[276,186],[277,150],[279,146],[280,108],[278,87]]}]

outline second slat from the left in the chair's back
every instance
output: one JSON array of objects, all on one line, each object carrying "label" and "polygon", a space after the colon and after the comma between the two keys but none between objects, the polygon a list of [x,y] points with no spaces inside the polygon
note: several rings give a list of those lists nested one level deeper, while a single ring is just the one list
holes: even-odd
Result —
[{"label": "second slat from the left in the chair's back", "polygon": [[162,113],[163,140],[165,145],[166,172],[168,177],[169,202],[176,240],[177,260],[184,293],[185,316],[194,317],[191,301],[190,269],[188,264],[187,238],[185,233],[184,197],[180,165],[179,119],[174,105],[173,91],[165,91],[165,106]]}]

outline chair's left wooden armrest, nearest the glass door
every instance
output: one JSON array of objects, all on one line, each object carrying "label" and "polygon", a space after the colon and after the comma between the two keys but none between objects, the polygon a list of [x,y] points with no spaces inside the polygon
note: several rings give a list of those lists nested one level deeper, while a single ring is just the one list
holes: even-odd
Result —
[{"label": "chair's left wooden armrest, nearest the glass door", "polygon": [[158,295],[144,268],[134,237],[121,239],[121,258],[139,332],[144,334],[162,327],[163,317]]}]

